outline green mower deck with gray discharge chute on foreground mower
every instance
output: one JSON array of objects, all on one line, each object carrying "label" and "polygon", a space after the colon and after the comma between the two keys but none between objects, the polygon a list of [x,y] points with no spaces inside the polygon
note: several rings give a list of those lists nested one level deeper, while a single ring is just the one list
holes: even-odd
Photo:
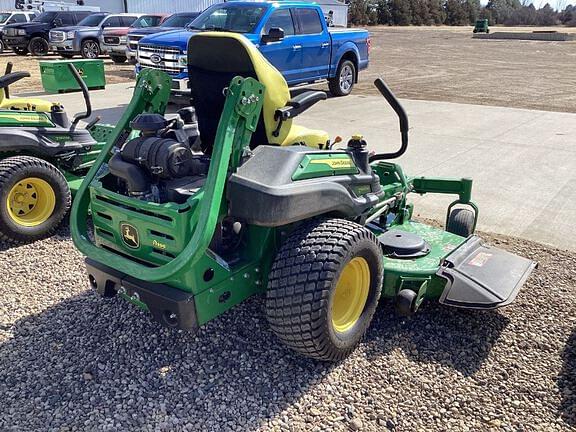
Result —
[{"label": "green mower deck with gray discharge chute on foreground mower", "polygon": [[427,254],[414,258],[386,255],[383,295],[395,297],[409,288],[422,297],[467,309],[495,309],[510,304],[535,264],[483,244],[477,236],[460,237],[415,221],[394,226],[415,234]]}]

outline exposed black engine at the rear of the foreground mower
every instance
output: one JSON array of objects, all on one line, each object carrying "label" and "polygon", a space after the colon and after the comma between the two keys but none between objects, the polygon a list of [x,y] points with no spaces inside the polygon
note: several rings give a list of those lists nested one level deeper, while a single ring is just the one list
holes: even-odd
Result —
[{"label": "exposed black engine at the rear of the foreground mower", "polygon": [[198,128],[193,108],[173,120],[140,114],[130,124],[140,136],[127,141],[108,162],[106,187],[156,203],[183,203],[204,183],[210,160],[193,152]]}]

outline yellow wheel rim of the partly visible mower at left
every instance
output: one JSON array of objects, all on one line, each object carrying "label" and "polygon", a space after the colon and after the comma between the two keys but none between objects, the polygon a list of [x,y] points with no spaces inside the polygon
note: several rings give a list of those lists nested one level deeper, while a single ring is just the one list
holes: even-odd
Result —
[{"label": "yellow wheel rim of the partly visible mower at left", "polygon": [[6,201],[8,215],[14,222],[33,227],[50,218],[56,207],[56,194],[47,181],[29,177],[12,187]]}]

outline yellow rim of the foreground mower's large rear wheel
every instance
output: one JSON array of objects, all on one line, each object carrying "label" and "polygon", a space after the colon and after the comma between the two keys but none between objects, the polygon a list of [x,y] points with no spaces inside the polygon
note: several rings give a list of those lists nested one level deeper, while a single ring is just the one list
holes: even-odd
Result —
[{"label": "yellow rim of the foreground mower's large rear wheel", "polygon": [[332,326],[337,332],[350,330],[362,315],[370,291],[370,267],[361,257],[342,270],[332,299]]}]

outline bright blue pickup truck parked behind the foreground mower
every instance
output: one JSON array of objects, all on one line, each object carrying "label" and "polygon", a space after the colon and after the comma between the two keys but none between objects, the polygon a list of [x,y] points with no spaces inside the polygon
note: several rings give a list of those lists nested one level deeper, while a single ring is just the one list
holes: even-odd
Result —
[{"label": "bright blue pickup truck parked behind the foreground mower", "polygon": [[358,72],[368,67],[368,32],[328,27],[322,9],[314,3],[233,1],[209,7],[185,30],[141,39],[136,72],[163,70],[172,76],[173,93],[188,93],[186,49],[190,36],[200,31],[242,33],[288,85],[328,80],[335,96],[350,94]]}]

